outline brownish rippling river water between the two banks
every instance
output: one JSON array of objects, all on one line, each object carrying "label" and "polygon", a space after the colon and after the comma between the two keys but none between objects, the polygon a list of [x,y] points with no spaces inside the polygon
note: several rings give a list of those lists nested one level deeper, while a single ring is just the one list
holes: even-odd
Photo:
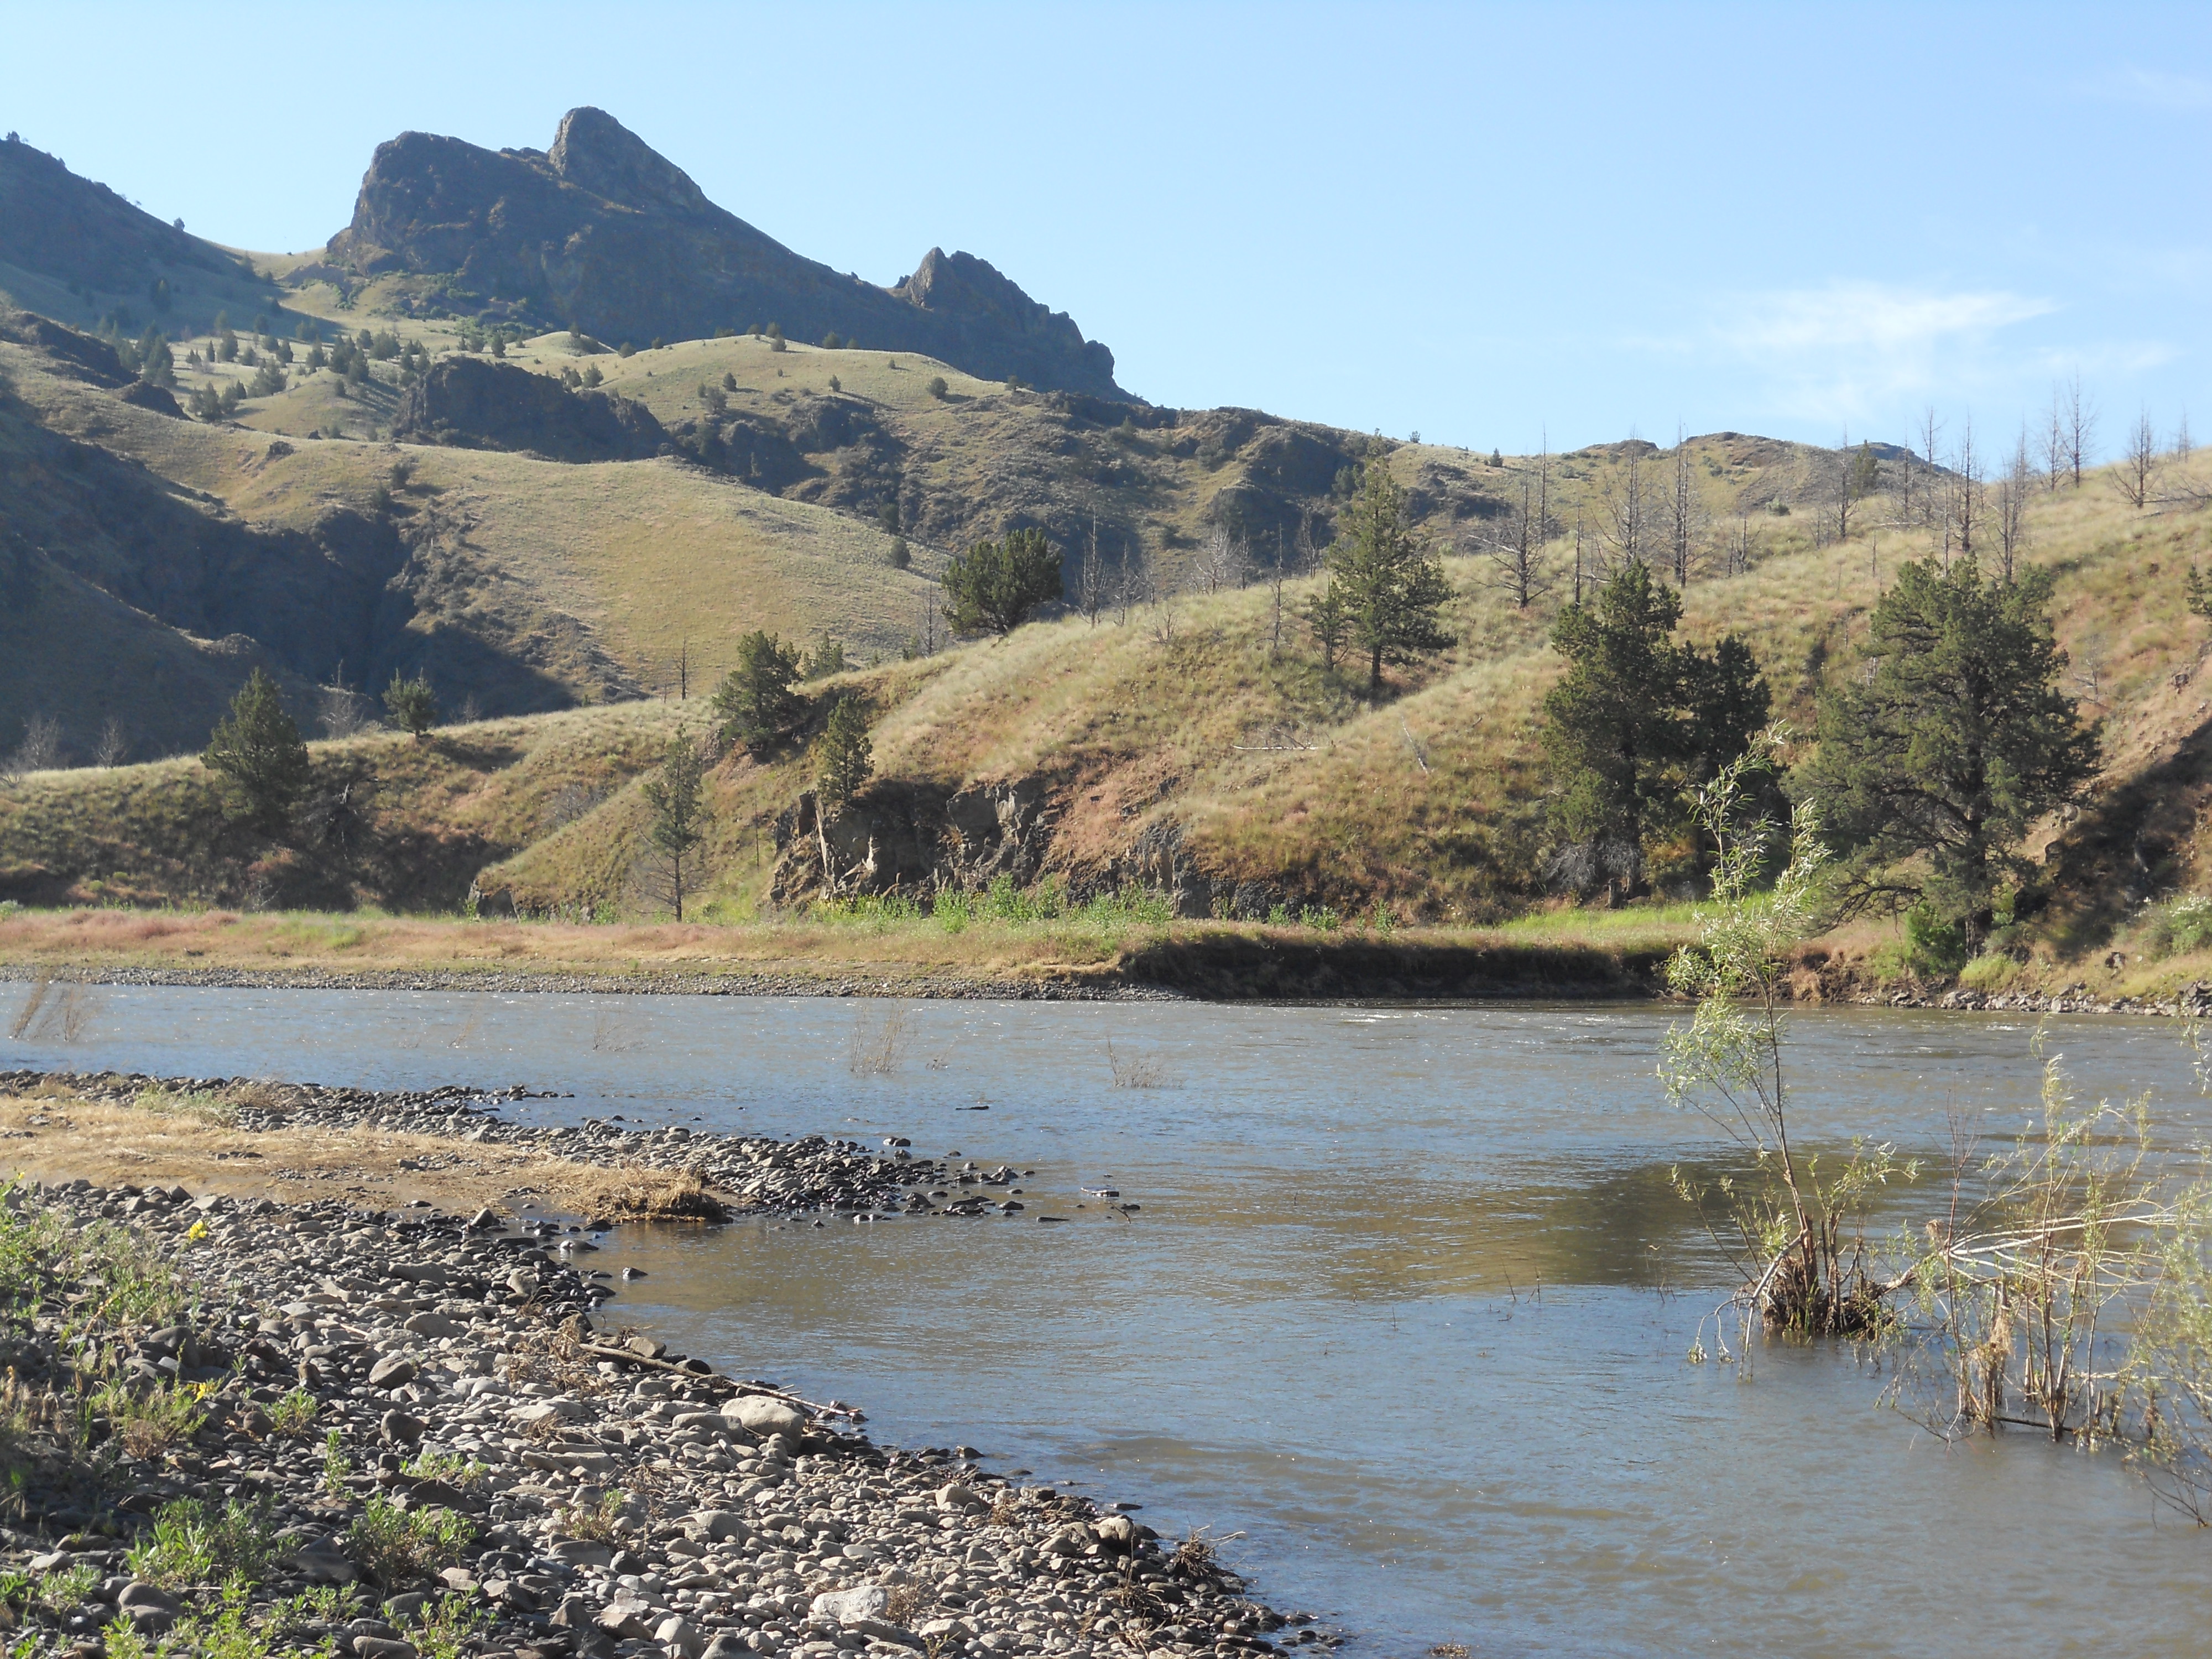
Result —
[{"label": "brownish rippling river water between the two banks", "polygon": [[[2212,1650],[2212,1533],[2115,1460],[1947,1447],[1834,1349],[1686,1352],[1725,1290],[1648,1006],[1206,1006],[104,989],[9,1064],[526,1084],[540,1121],[1033,1170],[1018,1217],[617,1234],[611,1303],[909,1444],[1144,1504],[1354,1652]],[[1801,1144],[2035,1106],[2017,1020],[1809,1011]],[[2212,1130],[2170,1022],[2057,1020],[2084,1091]],[[1110,1053],[1108,1053],[1110,1044]],[[1117,1086],[1117,1073],[1121,1086]],[[1150,1086],[1128,1086],[1144,1082]],[[1135,1212],[1115,1212],[1099,1190]],[[1893,1221],[1940,1208],[1902,1190]],[[1040,1214],[1064,1225],[1040,1225]],[[1710,1336],[1708,1336],[1710,1340]]]}]

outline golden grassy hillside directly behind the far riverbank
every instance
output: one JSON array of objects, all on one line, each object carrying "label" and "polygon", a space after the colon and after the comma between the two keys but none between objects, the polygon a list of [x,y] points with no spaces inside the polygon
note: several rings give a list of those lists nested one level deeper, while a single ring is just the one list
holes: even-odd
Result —
[{"label": "golden grassy hillside directly behind the far riverbank", "polygon": [[[2212,482],[2212,465],[2194,476]],[[2177,471],[2172,482],[2181,480]],[[1880,584],[1924,546],[1918,533],[1876,529],[1878,511],[1867,522],[1849,542],[1790,544],[1741,575],[1697,580],[1688,593],[1686,630],[1699,639],[1743,630],[1767,668],[1776,712],[1801,726],[1812,721],[1816,688],[1851,672]],[[2119,940],[2132,967],[2124,960],[2112,973],[2146,971],[2157,914],[2143,902],[2197,891],[2212,876],[2197,836],[2212,805],[2212,721],[2194,681],[2205,624],[2185,615],[2179,593],[2208,524],[2203,511],[2132,511],[2101,478],[2031,507],[2031,557],[2059,580],[2073,690],[2104,721],[2110,757],[2090,810],[2037,834],[2057,878],[2042,925],[2042,949],[2055,960]],[[1325,675],[1294,626],[1276,639],[1274,595],[1256,586],[1139,606],[1126,624],[1035,624],[1002,641],[849,672],[812,688],[816,719],[832,695],[867,701],[878,776],[863,812],[889,814],[885,825],[918,799],[995,790],[1024,803],[1037,847],[1031,874],[1046,891],[1073,894],[1057,902],[1057,927],[1075,929],[1071,938],[1104,927],[1121,940],[1133,918],[1157,920],[1141,905],[1084,909],[1077,900],[1157,889],[1161,865],[1144,854],[1161,847],[1214,907],[1303,920],[1307,933],[1495,925],[1535,911],[1520,927],[1584,936],[1588,916],[1542,920],[1551,900],[1540,880],[1537,721],[1557,672],[1544,646],[1551,606],[1511,608],[1475,560],[1453,560],[1449,573],[1460,644],[1402,675],[1376,706],[1360,686]],[[1301,584],[1290,584],[1285,604],[1298,597]],[[626,703],[462,728],[422,748],[385,737],[319,750],[332,774],[374,763],[385,834],[431,849],[414,863],[436,876],[414,885],[363,878],[352,896],[453,905],[480,874],[487,891],[511,894],[531,914],[655,916],[664,898],[641,858],[635,781],[677,726],[699,732],[708,714],[699,703]],[[695,900],[701,916],[748,925],[790,916],[768,902],[779,816],[807,783],[803,748],[768,763],[741,754],[717,763],[708,880]],[[221,841],[204,790],[188,763],[18,785],[0,801],[13,891],[237,902],[257,872],[276,880],[263,889],[276,902],[330,889],[307,854],[248,858],[250,847]],[[206,801],[190,834],[155,816],[179,801]],[[184,843],[190,849],[179,854]],[[93,889],[88,872],[108,885]],[[1046,898],[1000,902],[995,914],[1055,925],[1053,911]],[[931,940],[949,931],[874,902],[832,907],[805,925],[841,914],[847,931],[891,938],[883,949],[894,953],[911,956],[896,945],[902,929],[920,927]],[[1681,925],[1674,918],[1659,933]],[[1860,929],[1827,956],[1871,962],[1887,938]],[[2177,960],[2181,969],[2194,962]]]}]

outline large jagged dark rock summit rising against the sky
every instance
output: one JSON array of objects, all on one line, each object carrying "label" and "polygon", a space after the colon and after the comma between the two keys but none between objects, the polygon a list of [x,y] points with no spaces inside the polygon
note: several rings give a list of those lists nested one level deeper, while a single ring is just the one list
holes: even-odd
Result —
[{"label": "large jagged dark rock summit rising against the sky", "polygon": [[779,323],[925,352],[969,374],[1126,396],[1113,352],[973,254],[931,248],[896,288],[812,259],[717,208],[613,115],[575,108],[551,150],[400,133],[376,146],[330,263],[451,274],[456,290],[608,341]]}]

